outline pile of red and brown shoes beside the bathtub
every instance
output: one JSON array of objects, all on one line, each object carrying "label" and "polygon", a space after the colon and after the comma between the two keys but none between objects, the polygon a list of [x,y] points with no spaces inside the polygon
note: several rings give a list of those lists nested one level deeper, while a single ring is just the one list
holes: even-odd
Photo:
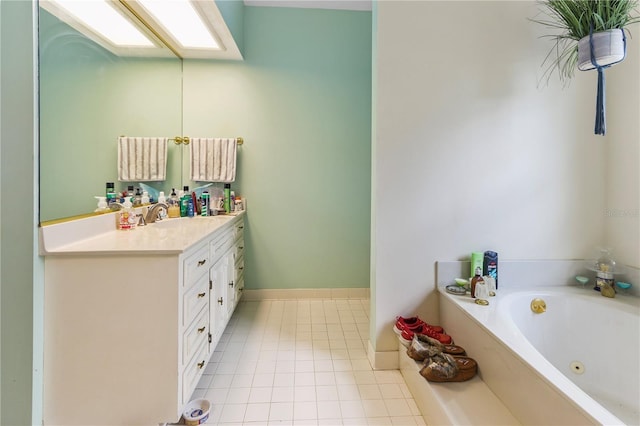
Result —
[{"label": "pile of red and brown shoes beside the bathtub", "polygon": [[464,382],[478,371],[478,363],[466,356],[442,327],[429,325],[418,317],[397,317],[393,331],[407,347],[407,355],[424,365],[422,377],[430,382]]}]

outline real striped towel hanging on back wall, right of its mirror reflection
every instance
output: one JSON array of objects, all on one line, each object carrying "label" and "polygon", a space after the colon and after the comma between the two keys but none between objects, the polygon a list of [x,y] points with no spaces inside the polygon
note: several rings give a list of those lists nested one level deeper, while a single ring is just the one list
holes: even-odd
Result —
[{"label": "real striped towel hanging on back wall, right of its mirror reflection", "polygon": [[235,138],[191,138],[191,180],[233,182],[236,180]]}]

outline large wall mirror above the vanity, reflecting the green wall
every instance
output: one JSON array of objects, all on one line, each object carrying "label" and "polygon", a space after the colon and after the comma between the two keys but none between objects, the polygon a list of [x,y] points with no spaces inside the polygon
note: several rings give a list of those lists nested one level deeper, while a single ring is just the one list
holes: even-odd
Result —
[{"label": "large wall mirror above the vanity, reflecting the green wall", "polygon": [[[40,222],[93,212],[118,182],[119,136],[182,134],[182,61],[115,56],[40,8]],[[178,188],[183,147],[168,144],[167,179]],[[132,184],[132,183],[129,183]]]}]

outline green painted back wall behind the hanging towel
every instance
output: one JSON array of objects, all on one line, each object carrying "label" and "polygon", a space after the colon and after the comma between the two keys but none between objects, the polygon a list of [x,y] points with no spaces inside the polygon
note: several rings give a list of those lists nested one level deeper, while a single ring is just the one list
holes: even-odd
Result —
[{"label": "green painted back wall behind the hanging towel", "polygon": [[371,13],[246,7],[243,62],[185,60],[185,134],[242,136],[246,287],[369,286]]}]

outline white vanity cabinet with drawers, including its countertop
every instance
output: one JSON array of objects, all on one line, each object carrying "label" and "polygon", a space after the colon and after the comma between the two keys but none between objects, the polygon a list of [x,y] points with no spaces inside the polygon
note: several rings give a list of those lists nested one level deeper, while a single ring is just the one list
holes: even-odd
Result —
[{"label": "white vanity cabinet with drawers, including its countertop", "polygon": [[179,420],[239,300],[244,213],[175,223],[42,243],[45,425]]}]

